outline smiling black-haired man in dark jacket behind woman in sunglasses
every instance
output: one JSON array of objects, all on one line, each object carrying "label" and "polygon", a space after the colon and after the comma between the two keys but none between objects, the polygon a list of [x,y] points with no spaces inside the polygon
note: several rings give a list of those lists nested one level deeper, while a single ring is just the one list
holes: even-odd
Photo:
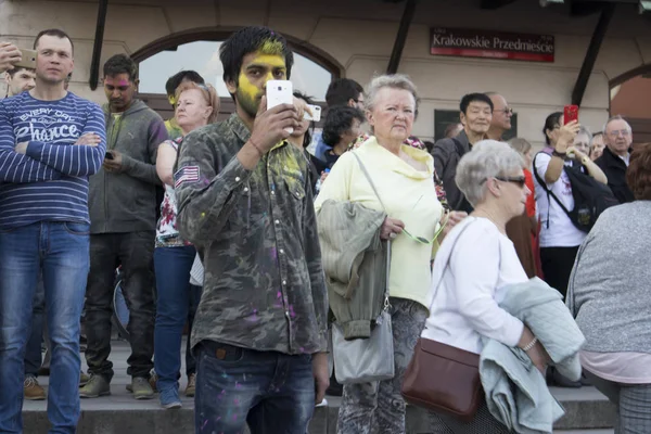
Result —
[{"label": "smiling black-haired man in dark jacket behind woman in sunglasses", "polygon": [[461,99],[460,114],[463,131],[456,138],[441,139],[434,143],[432,155],[434,168],[443,180],[443,187],[451,209],[472,212],[472,206],[455,182],[457,165],[473,144],[488,139],[493,119],[493,101],[485,93],[469,93]]}]

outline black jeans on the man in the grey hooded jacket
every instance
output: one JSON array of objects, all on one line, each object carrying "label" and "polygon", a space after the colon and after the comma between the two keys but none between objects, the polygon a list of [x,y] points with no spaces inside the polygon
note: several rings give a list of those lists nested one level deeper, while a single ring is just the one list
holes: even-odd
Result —
[{"label": "black jeans on the man in the grey hooded jacket", "polygon": [[127,373],[149,378],[154,367],[154,231],[90,235],[90,273],[86,290],[88,372],[113,379],[111,316],[115,269],[122,264],[122,290],[129,306]]}]

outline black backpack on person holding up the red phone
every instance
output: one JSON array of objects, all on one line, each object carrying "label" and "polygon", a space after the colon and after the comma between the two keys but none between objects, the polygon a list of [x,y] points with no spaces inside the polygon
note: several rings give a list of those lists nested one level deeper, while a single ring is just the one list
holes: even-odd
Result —
[{"label": "black backpack on person holding up the red phone", "polygon": [[580,167],[563,165],[563,170],[565,170],[565,174],[570,179],[570,184],[572,186],[572,196],[574,197],[574,208],[572,210],[569,210],[556,194],[547,188],[547,183],[540,178],[536,170],[536,163],[534,161],[534,175],[536,176],[538,183],[547,192],[547,195],[553,197],[567,217],[570,217],[570,220],[572,220],[572,224],[574,224],[575,227],[584,232],[589,232],[601,213],[611,206],[618,205],[620,202],[615,199],[608,186],[598,182],[591,176],[584,174],[580,170]]}]

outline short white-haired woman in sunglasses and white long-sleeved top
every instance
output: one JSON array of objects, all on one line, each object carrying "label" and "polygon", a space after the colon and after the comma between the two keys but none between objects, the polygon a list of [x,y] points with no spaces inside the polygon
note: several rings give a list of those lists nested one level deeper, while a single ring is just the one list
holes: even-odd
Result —
[{"label": "short white-haired woman in sunglasses and white long-sleeved top", "polygon": [[[531,190],[525,184],[522,157],[507,143],[484,140],[461,158],[456,182],[474,212],[452,229],[441,245],[429,294],[430,317],[422,336],[481,354],[483,339],[527,349],[542,372],[547,353],[532,331],[498,303],[506,288],[528,280],[507,222],[524,213]],[[452,248],[454,247],[454,248]],[[432,412],[436,433],[508,433],[484,403],[471,422]]]}]

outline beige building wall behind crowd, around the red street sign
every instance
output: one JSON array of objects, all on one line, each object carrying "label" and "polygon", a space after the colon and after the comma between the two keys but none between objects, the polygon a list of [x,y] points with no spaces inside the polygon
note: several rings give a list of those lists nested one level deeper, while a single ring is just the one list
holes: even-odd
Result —
[{"label": "beige building wall behind crowd, around the red street sign", "polygon": [[[570,103],[598,15],[570,17],[564,8],[542,9],[520,0],[483,11],[473,0],[421,1],[403,53],[399,72],[409,74],[422,94],[414,133],[434,136],[434,110],[458,108],[464,93],[498,91],[519,113],[519,135],[542,142],[545,117]],[[268,25],[334,58],[347,77],[361,84],[388,63],[404,3],[380,0],[125,0],[110,2],[102,64],[119,52],[133,53],[170,34],[193,28],[229,29]],[[65,29],[75,42],[72,90],[104,101],[101,88],[88,88],[97,21],[97,1],[0,1],[0,39],[30,47],[49,27]],[[611,23],[584,97],[580,120],[597,130],[608,117],[609,80],[651,63],[651,27],[634,5],[620,5]],[[556,62],[531,63],[432,56],[430,27],[484,28],[556,36]],[[163,89],[161,90],[164,91]]]}]

